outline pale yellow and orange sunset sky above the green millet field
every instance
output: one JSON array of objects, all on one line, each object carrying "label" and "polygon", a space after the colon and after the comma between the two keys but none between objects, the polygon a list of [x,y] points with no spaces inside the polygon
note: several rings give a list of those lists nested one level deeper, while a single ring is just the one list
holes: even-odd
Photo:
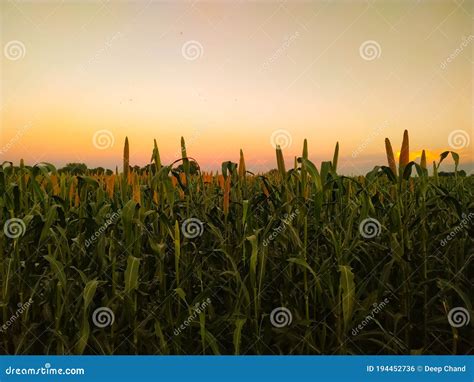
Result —
[{"label": "pale yellow and orange sunset sky above the green millet field", "polygon": [[[2,1],[0,161],[115,168],[188,154],[386,163],[404,129],[413,157],[474,169],[472,1]],[[451,147],[450,147],[451,144]]]}]

